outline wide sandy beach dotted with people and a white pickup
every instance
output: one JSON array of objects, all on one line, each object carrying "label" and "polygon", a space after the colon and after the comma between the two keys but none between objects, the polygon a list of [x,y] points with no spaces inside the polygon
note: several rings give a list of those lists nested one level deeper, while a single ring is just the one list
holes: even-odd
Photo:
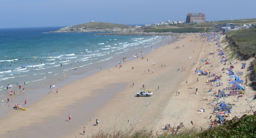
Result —
[{"label": "wide sandy beach dotted with people and a white pickup", "polygon": [[[214,97],[210,96],[213,92],[207,91],[210,88],[222,90],[228,85],[228,75],[222,73],[221,69],[230,65],[219,63],[216,42],[201,42],[200,37],[196,36],[199,33],[179,36],[180,39],[176,42],[163,44],[157,50],[143,55],[144,59],[137,58],[127,62],[120,59],[121,68],[101,70],[65,85],[58,89],[59,94],[52,92],[45,95],[37,103],[30,105],[27,111],[13,110],[1,118],[3,125],[0,126],[0,137],[87,137],[99,130],[125,131],[131,127],[158,131],[165,124],[178,126],[180,122],[186,128],[208,128],[209,116],[213,110],[213,106],[208,103]],[[221,39],[223,38],[222,36]],[[209,52],[215,54],[208,55]],[[210,64],[200,64],[200,59],[206,58],[210,59]],[[194,65],[196,62],[197,65]],[[241,70],[241,62],[234,64],[234,71]],[[249,65],[249,60],[243,62]],[[223,85],[207,85],[207,75],[195,74],[199,66],[222,75]],[[180,70],[177,71],[177,68]],[[186,70],[182,71],[182,68]],[[245,69],[243,71],[246,72]],[[244,81],[245,77],[245,74],[241,76]],[[143,90],[143,84],[145,89],[153,90],[152,96],[136,97],[137,92]],[[198,88],[199,94],[195,95],[195,89],[191,87]],[[180,92],[178,96],[176,91]],[[232,116],[228,118],[251,114],[248,100],[245,99],[249,98],[250,105],[255,106],[254,94],[255,91],[248,87],[239,102],[236,102],[237,96],[225,98],[226,103],[235,104]],[[203,100],[203,97],[208,100]],[[150,104],[147,106],[147,103]],[[11,108],[13,105],[9,106]],[[205,108],[205,112],[197,113],[201,108]],[[95,125],[96,119],[99,120],[98,126]],[[191,121],[194,122],[193,125]],[[82,135],[83,127],[86,128],[86,135]]]}]

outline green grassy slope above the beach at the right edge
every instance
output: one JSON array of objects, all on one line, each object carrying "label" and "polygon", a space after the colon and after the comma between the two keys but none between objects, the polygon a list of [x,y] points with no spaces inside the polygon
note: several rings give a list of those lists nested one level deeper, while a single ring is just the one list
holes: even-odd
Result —
[{"label": "green grassy slope above the beach at the right edge", "polygon": [[230,44],[238,48],[245,59],[255,57],[256,54],[256,29],[242,29],[227,33]]}]

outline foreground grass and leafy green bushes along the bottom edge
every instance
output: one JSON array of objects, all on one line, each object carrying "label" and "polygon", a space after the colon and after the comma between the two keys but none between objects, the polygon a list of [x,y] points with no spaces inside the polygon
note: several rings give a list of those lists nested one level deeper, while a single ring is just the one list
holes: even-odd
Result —
[{"label": "foreground grass and leafy green bushes along the bottom edge", "polygon": [[114,131],[112,133],[104,133],[102,130],[93,135],[92,138],[251,138],[256,137],[256,114],[253,115],[243,115],[240,119],[234,117],[229,120],[226,124],[218,124],[213,128],[206,129],[202,132],[198,132],[195,129],[181,131],[178,134],[170,132],[170,130],[157,131],[147,131],[145,129],[140,131],[135,131],[131,128],[127,131]]}]

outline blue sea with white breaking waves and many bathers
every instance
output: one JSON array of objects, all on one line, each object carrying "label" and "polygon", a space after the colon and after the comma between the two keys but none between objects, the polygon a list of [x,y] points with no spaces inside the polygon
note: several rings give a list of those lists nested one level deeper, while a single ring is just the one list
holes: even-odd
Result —
[{"label": "blue sea with white breaking waves and many bathers", "polygon": [[[36,101],[48,94],[49,85],[59,88],[100,68],[115,67],[123,57],[129,61],[135,53],[146,54],[170,40],[170,36],[48,33],[60,28],[0,29],[0,100]],[[13,86],[9,91],[8,84]],[[25,92],[18,90],[17,84]],[[15,95],[10,91],[16,91]]]}]

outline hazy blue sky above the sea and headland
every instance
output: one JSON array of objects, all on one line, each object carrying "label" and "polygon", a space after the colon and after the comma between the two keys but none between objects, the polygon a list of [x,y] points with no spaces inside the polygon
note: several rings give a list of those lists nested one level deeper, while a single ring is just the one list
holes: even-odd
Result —
[{"label": "hazy blue sky above the sea and headland", "polygon": [[0,0],[0,28],[72,26],[86,22],[152,24],[186,20],[256,18],[256,0]]}]

